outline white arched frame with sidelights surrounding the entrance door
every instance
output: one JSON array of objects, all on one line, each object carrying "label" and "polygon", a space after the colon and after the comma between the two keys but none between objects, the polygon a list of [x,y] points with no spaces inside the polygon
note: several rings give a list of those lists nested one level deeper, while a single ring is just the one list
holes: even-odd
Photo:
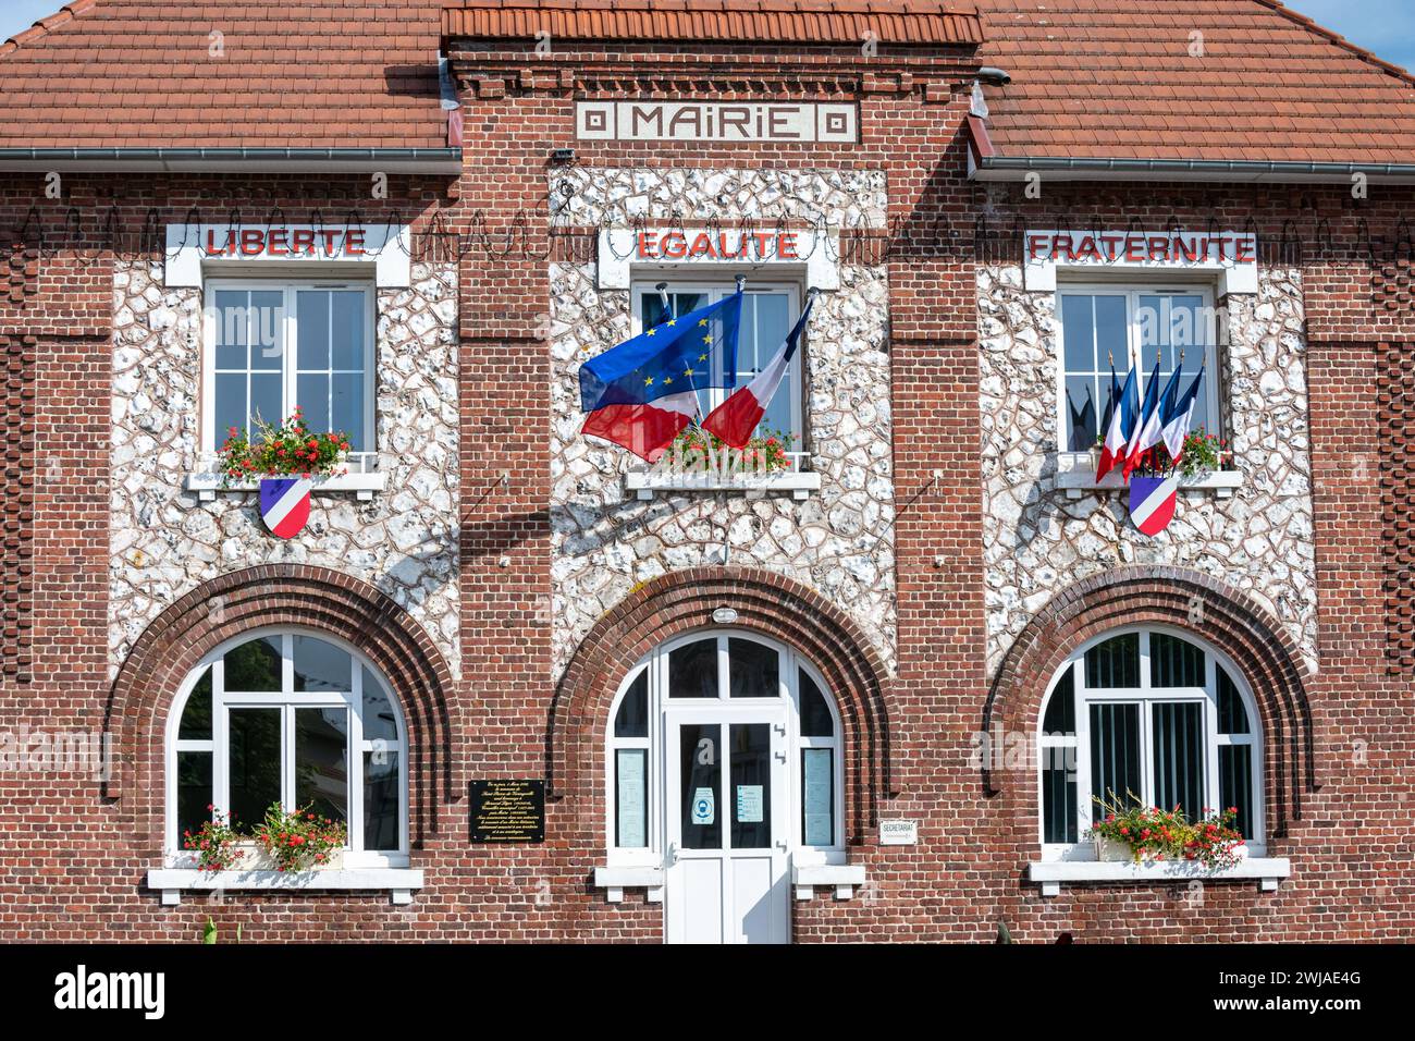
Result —
[{"label": "white arched frame with sidelights surrounding the entrance door", "polygon": [[[716,639],[717,640],[717,677],[719,690],[716,698],[669,698],[666,697],[668,690],[668,656],[689,643],[696,643],[698,640]],[[843,731],[841,727],[841,712],[839,707],[835,704],[835,697],[831,691],[829,684],[821,676],[821,671],[812,666],[809,661],[804,660],[792,649],[775,640],[766,639],[753,632],[744,629],[708,629],[696,633],[689,633],[688,636],[681,636],[678,639],[669,640],[652,652],[648,653],[641,661],[638,661],[633,669],[628,670],[624,680],[620,683],[620,688],[614,695],[614,702],[610,705],[608,719],[604,728],[604,847],[607,850],[607,864],[611,868],[661,868],[664,865],[664,799],[665,799],[665,772],[668,769],[668,749],[664,741],[665,732],[665,710],[691,710],[693,707],[724,707],[736,705],[744,708],[744,717],[751,712],[751,710],[760,710],[764,705],[780,704],[780,700],[774,698],[733,698],[730,697],[730,683],[727,671],[727,640],[751,640],[760,643],[778,654],[777,676],[781,681],[780,700],[785,702],[787,715],[787,748],[788,755],[788,775],[790,775],[790,813],[791,824],[787,834],[788,838],[788,853],[792,857],[794,865],[801,864],[845,864],[846,863],[846,848],[845,848],[845,770],[843,770]],[[614,718],[618,715],[620,704],[624,701],[624,695],[634,686],[634,681],[641,673],[648,670],[648,738],[616,738],[614,736]],[[833,736],[829,738],[807,738],[801,735],[801,690],[799,690],[799,673],[798,670],[805,670],[805,673],[815,681],[819,687],[821,694],[825,698],[826,708],[831,712],[831,729]],[[616,840],[616,814],[618,810],[618,803],[616,799],[616,752],[621,748],[647,748],[648,749],[648,776],[647,776],[647,795],[648,795],[648,830],[647,838],[648,846],[644,848],[635,847],[618,847],[614,844]],[[807,846],[804,834],[804,821],[801,816],[801,800],[802,792],[802,778],[801,778],[801,749],[802,748],[829,748],[833,749],[833,821],[832,821],[832,837],[835,841],[831,846]]]}]

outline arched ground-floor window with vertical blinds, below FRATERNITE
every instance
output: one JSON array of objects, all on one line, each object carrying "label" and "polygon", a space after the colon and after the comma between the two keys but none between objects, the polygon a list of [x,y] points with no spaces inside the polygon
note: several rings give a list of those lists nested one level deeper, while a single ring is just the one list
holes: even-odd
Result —
[{"label": "arched ground-floor window with vertical blinds, below FRATERNITE", "polygon": [[1108,633],[1057,671],[1041,708],[1040,830],[1049,858],[1084,858],[1095,799],[1180,806],[1190,820],[1234,806],[1262,855],[1262,745],[1232,663],[1191,636]]}]

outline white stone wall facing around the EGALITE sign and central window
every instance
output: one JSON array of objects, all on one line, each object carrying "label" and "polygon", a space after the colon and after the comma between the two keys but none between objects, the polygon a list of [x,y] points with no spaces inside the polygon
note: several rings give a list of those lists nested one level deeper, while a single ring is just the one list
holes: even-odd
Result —
[{"label": "white stone wall facing around the EGALITE sign and central window", "polygon": [[[569,184],[569,193],[560,190]],[[744,218],[883,222],[882,171],[570,170],[552,173],[558,222],[618,225]],[[768,275],[761,275],[768,278]],[[580,436],[576,371],[630,336],[630,295],[597,288],[594,263],[550,265],[553,654],[559,676],[594,622],[637,585],[722,564],[794,578],[849,610],[893,667],[896,642],[889,285],[886,268],[841,265],[812,313],[807,423],[821,491],[747,500],[661,493],[640,501],[642,462]]]}]

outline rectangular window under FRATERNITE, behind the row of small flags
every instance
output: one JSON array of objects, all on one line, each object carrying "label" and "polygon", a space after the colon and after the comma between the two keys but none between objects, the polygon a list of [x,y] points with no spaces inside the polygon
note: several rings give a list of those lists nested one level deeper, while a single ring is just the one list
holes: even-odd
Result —
[{"label": "rectangular window under FRATERNITE, behind the row of small flags", "polygon": [[1111,401],[1111,364],[1125,385],[1136,368],[1139,397],[1159,360],[1159,389],[1180,371],[1180,391],[1207,360],[1194,406],[1193,429],[1218,432],[1217,316],[1208,289],[1073,286],[1057,292],[1061,336],[1058,443],[1063,452],[1088,452],[1104,436]]}]

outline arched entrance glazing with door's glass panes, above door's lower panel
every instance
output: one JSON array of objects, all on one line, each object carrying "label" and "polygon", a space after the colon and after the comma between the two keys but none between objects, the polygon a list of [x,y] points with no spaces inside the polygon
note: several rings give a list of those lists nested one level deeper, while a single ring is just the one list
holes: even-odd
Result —
[{"label": "arched entrance glazing with door's glass panes, above door's lower panel", "polygon": [[[661,865],[674,841],[843,863],[841,719],[826,690],[795,652],[740,632],[683,637],[635,664],[606,735],[610,863]],[[717,744],[720,765],[695,758]],[[715,806],[698,810],[703,792]]]}]

